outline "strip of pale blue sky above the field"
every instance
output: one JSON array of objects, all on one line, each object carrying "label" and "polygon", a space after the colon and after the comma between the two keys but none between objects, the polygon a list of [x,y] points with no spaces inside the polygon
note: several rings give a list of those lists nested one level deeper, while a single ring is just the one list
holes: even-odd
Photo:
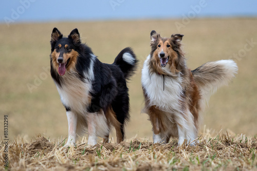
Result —
[{"label": "strip of pale blue sky above the field", "polygon": [[[141,20],[257,16],[257,1],[2,0],[0,22]],[[14,22],[13,22],[14,21]]]}]

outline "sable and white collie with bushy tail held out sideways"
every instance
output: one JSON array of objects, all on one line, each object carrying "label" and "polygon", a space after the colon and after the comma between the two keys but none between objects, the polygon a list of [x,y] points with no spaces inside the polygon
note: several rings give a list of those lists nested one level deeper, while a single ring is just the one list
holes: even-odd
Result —
[{"label": "sable and white collie with bushy tail held out sideways", "polygon": [[141,82],[154,143],[168,143],[171,137],[178,137],[179,145],[194,141],[205,101],[237,72],[232,60],[208,62],[191,71],[181,48],[182,36],[167,38],[151,32],[151,52]]}]

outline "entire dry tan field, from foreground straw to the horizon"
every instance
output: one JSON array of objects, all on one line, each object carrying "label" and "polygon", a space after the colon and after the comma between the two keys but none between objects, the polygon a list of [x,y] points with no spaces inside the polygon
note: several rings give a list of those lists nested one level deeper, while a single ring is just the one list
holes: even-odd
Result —
[{"label": "entire dry tan field, from foreground straw to the horizon", "polygon": [[[9,169],[257,169],[257,18],[191,20],[180,31],[175,22],[181,20],[36,23],[9,28],[1,24],[0,131],[4,132],[4,115],[8,115]],[[126,126],[127,140],[123,144],[85,147],[86,138],[80,138],[77,147],[62,148],[68,124],[49,73],[53,27],[64,35],[78,28],[82,41],[104,63],[113,63],[124,47],[134,49],[140,66],[128,84],[131,121]],[[201,129],[196,147],[178,148],[176,140],[168,145],[152,145],[151,123],[141,113],[140,83],[142,63],[150,52],[151,30],[162,36],[184,34],[182,42],[191,69],[208,61],[230,58],[238,65],[233,82],[211,97],[204,114],[206,129]],[[3,140],[4,133],[0,136]],[[0,145],[2,169],[3,142]]]}]

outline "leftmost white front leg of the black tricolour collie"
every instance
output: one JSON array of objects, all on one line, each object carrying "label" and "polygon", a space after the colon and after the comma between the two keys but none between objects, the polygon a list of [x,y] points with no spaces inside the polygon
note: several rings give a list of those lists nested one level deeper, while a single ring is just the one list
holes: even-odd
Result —
[{"label": "leftmost white front leg of the black tricolour collie", "polygon": [[77,122],[78,122],[78,116],[76,113],[72,112],[71,110],[66,111],[67,119],[68,119],[68,125],[69,125],[69,137],[67,143],[64,145],[64,147],[70,147],[71,145],[76,144],[76,128],[77,128]]}]

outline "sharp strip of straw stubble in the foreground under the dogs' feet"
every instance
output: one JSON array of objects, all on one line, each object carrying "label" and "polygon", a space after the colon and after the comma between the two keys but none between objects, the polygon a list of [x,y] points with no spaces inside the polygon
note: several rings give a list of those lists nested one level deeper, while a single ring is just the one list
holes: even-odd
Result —
[{"label": "sharp strip of straw stubble in the foreground under the dogs' feet", "polygon": [[[37,137],[27,143],[16,139],[9,146],[10,170],[256,170],[256,138],[211,135],[206,131],[196,146],[153,144],[137,139],[94,147],[82,140],[62,147],[62,140]],[[3,148],[0,150],[3,153]],[[2,156],[1,156],[2,157]],[[1,159],[3,160],[3,159]],[[1,161],[2,162],[2,161]],[[1,167],[3,168],[1,163]]]}]

